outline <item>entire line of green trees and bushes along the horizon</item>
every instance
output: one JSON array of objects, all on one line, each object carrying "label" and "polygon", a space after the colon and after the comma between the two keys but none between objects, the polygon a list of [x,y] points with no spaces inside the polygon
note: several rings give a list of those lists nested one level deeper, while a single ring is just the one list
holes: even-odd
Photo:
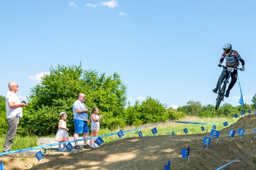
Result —
[{"label": "entire line of green trees and bushes along the horizon", "polygon": [[[199,117],[232,117],[244,110],[243,106],[224,104],[216,111],[213,105],[202,106],[192,100],[177,109],[167,108],[166,104],[148,96],[146,100],[136,101],[134,106],[127,102],[127,86],[115,72],[106,76],[96,70],[84,70],[79,66],[50,67],[50,74],[42,77],[41,83],[31,89],[28,103],[23,107],[17,134],[21,136],[47,136],[58,130],[58,114],[65,111],[70,135],[74,134],[73,103],[79,93],[86,96],[85,105],[92,110],[98,107],[102,114],[101,128],[115,129],[127,125],[141,125],[175,120],[185,115]],[[245,110],[256,108],[256,94],[252,104],[245,104]],[[90,115],[89,115],[90,116]],[[90,126],[90,125],[89,125]],[[0,96],[0,135],[7,131],[5,97]]]}]

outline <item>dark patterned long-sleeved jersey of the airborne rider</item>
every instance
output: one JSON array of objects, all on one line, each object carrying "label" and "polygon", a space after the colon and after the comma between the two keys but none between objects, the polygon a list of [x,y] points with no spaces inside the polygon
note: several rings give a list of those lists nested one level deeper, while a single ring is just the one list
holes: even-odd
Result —
[{"label": "dark patterned long-sleeved jersey of the airborne rider", "polygon": [[232,50],[229,56],[226,56],[225,52],[222,54],[220,62],[222,63],[226,57],[226,65],[237,68],[239,66],[239,60],[242,60],[236,50]]}]

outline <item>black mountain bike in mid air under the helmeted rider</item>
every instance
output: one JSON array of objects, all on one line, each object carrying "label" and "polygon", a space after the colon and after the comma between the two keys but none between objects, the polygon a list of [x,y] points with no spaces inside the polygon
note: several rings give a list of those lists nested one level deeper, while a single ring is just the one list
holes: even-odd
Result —
[{"label": "black mountain bike in mid air under the helmeted rider", "polygon": [[223,68],[221,74],[220,74],[220,79],[219,79],[219,84],[218,84],[218,97],[216,98],[216,106],[215,110],[217,110],[220,106],[220,102],[224,101],[224,94],[226,91],[226,86],[228,83],[228,79],[230,78],[230,75],[234,70],[241,70],[241,68],[232,68],[232,67],[227,67],[227,66],[221,66]]}]

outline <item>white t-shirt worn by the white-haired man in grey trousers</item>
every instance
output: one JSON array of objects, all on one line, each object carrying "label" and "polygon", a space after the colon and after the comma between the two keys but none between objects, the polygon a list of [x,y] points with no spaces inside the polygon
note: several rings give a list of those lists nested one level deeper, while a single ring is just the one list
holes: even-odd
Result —
[{"label": "white t-shirt worn by the white-haired man in grey trousers", "polygon": [[20,99],[18,96],[11,91],[8,91],[5,98],[5,107],[6,107],[6,119],[15,117],[17,114],[19,117],[22,117],[22,107],[9,107],[9,102],[14,102],[15,104],[20,104]]}]

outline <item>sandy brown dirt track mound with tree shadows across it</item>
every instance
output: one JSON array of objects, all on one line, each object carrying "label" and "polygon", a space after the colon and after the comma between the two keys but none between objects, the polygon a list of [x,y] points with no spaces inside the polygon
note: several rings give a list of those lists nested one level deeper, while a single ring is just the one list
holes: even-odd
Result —
[{"label": "sandy brown dirt track mound with tree shadows across it", "polygon": [[[239,128],[244,135],[239,141]],[[230,129],[236,131],[231,141]],[[0,156],[4,170],[164,170],[167,161],[171,161],[173,170],[214,170],[256,149],[256,114],[241,117],[237,123],[220,131],[218,143],[212,138],[206,150],[204,136],[210,133],[194,135],[162,135],[150,137],[125,138],[94,149],[84,149],[78,153],[56,152],[54,149],[43,160],[32,156]],[[182,159],[181,149],[190,147],[190,160]],[[255,157],[254,157],[255,156]],[[225,162],[226,161],[226,162]],[[224,170],[255,170],[256,152],[243,156]]]}]

